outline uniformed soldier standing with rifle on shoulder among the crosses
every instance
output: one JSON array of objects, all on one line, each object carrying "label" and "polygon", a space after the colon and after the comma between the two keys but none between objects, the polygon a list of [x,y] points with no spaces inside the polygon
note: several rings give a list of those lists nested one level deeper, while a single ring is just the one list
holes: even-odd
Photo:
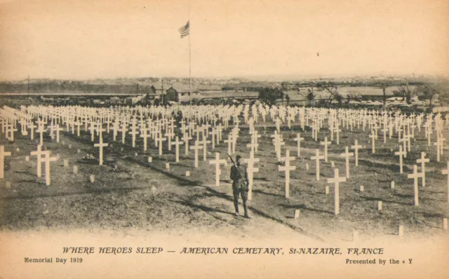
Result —
[{"label": "uniformed soldier standing with rifle on shoulder among the crosses", "polygon": [[251,218],[248,215],[248,172],[246,166],[241,165],[241,156],[236,156],[236,164],[231,167],[232,191],[234,193],[234,207],[236,209],[236,216],[239,216],[239,196],[243,200],[243,209],[245,210],[245,218]]}]

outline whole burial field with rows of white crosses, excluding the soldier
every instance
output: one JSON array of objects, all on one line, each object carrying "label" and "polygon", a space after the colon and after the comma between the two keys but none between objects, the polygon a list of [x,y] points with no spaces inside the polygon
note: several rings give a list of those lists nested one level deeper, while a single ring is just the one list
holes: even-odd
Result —
[{"label": "whole burial field with rows of white crosses, excluding the soldier", "polygon": [[[0,111],[0,229],[319,239],[447,232],[449,114],[240,106]],[[248,169],[234,217],[229,171]]]}]

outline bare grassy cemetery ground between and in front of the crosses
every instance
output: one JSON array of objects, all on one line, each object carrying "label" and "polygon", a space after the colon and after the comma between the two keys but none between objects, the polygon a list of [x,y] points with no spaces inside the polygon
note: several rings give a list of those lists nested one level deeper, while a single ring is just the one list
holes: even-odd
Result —
[{"label": "bare grassy cemetery ground between and in front of the crosses", "polygon": [[[248,158],[248,125],[239,125],[239,128],[236,154]],[[51,164],[51,185],[46,186],[45,175],[36,177],[36,157],[30,156],[29,161],[25,161],[25,156],[36,150],[39,136],[31,141],[29,136],[16,133],[14,142],[7,142],[2,136],[0,144],[11,151],[12,156],[5,159],[5,178],[0,181],[0,229],[143,229],[244,238],[290,233],[324,241],[351,240],[354,230],[361,239],[398,237],[399,225],[403,225],[405,236],[434,236],[447,232],[443,230],[443,218],[449,217],[447,176],[441,174],[441,169],[445,168],[449,151],[436,162],[436,147],[427,147],[424,128],[415,131],[412,151],[403,159],[402,175],[398,156],[394,156],[398,151],[397,135],[384,144],[382,132],[379,132],[375,154],[371,154],[369,128],[366,131],[342,129],[340,144],[334,140],[328,147],[328,162],[321,160],[320,180],[316,181],[315,161],[310,157],[315,155],[315,149],[323,154],[319,142],[325,136],[330,140],[330,132],[323,127],[319,139],[314,141],[308,127],[303,131],[297,123],[290,129],[282,126],[286,142],[282,156],[286,155],[286,149],[290,150],[290,156],[297,156],[294,138],[297,132],[304,137],[300,157],[290,162],[296,166],[296,170],[290,172],[290,198],[285,197],[286,172],[278,170],[270,137],[276,128],[269,123],[256,123],[255,128],[262,137],[255,153],[255,157],[260,158],[260,162],[255,163],[259,172],[254,173],[253,198],[248,201],[252,219],[234,216],[229,179],[231,163],[225,142],[217,144],[215,150],[208,144],[207,161],[203,161],[200,150],[199,168],[194,168],[193,151],[189,150],[189,155],[185,156],[185,146],[180,147],[180,162],[176,163],[175,147],[168,151],[166,142],[163,142],[163,155],[159,156],[153,141],[149,141],[148,151],[143,152],[141,140],[133,148],[129,135],[126,144],[121,144],[120,136],[113,141],[112,131],[104,132],[103,142],[109,146],[104,149],[104,165],[98,165],[98,147],[93,147],[88,131],[81,130],[81,137],[76,137],[76,132],[72,135],[64,131],[60,143],[46,134],[43,149],[50,150],[52,156],[59,154],[58,161]],[[224,132],[223,140],[229,130]],[[448,130],[444,132],[448,135]],[[95,143],[97,139],[95,137]],[[357,167],[354,157],[349,161],[350,178],[340,183],[340,214],[335,215],[334,187],[327,183],[334,175],[331,161],[343,176],[345,161],[340,154],[344,153],[344,147],[354,145],[354,140],[358,140],[363,149],[358,151]],[[431,160],[426,164],[426,186],[422,186],[419,179],[420,205],[414,206],[413,179],[408,179],[407,175],[413,172],[421,151]],[[227,167],[220,167],[220,186],[215,186],[215,165],[209,163],[215,158],[215,152],[220,152],[220,159],[228,161]],[[88,154],[95,159],[89,159]],[[151,163],[149,156],[152,156]],[[65,159],[68,159],[68,167],[64,165]],[[169,169],[166,163],[170,163]],[[76,174],[74,165],[78,168]],[[191,175],[186,176],[186,171]],[[91,175],[95,176],[94,182],[91,182]],[[391,181],[395,183],[394,189],[391,189]],[[329,186],[328,194],[326,186]],[[378,210],[380,201],[382,210]],[[241,201],[240,208],[242,214]],[[293,218],[295,210],[300,210],[297,219]]]}]

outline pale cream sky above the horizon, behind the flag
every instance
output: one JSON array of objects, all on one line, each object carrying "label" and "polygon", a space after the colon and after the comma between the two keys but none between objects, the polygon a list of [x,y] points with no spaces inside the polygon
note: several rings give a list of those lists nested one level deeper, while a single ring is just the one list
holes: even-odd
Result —
[{"label": "pale cream sky above the horizon, behind the flag", "polygon": [[[177,31],[190,20],[190,35]],[[444,75],[449,1],[0,0],[0,80]]]}]

